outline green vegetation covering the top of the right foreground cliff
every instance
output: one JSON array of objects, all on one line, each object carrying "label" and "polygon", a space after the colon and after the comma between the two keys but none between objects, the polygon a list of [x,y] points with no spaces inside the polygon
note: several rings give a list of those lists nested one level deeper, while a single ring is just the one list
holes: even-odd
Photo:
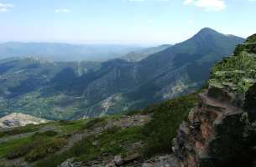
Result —
[{"label": "green vegetation covering the top of the right foreground cliff", "polygon": [[256,82],[255,34],[239,44],[232,57],[224,58],[212,68],[209,84],[245,94]]}]

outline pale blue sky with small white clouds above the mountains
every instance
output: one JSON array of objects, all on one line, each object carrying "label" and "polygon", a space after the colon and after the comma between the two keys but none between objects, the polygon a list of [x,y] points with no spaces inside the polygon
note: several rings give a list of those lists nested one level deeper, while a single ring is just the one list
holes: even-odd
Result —
[{"label": "pale blue sky with small white clouds above the mountains", "polygon": [[256,0],[0,0],[0,43],[179,43],[256,33]]}]

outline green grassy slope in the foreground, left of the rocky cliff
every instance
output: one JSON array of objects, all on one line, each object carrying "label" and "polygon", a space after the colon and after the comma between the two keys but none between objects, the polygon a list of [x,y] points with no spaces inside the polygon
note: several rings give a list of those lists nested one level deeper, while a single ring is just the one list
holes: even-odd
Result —
[{"label": "green grassy slope in the foreground, left of the rocky cliff", "polygon": [[[88,162],[94,159],[102,160],[116,154],[122,154],[123,157],[140,154],[141,159],[146,159],[154,154],[169,153],[171,140],[175,137],[179,124],[187,117],[189,110],[195,104],[196,94],[190,94],[144,110],[131,112],[129,116],[118,115],[102,119],[60,121],[40,125],[40,128],[50,126],[57,129],[54,131],[39,132],[38,126],[31,125],[12,129],[11,131],[15,133],[2,132],[2,138],[12,136],[12,134],[26,134],[33,131],[36,133],[0,144],[0,157],[9,160],[22,157],[35,166],[50,167],[71,157]],[[107,121],[114,122],[122,117],[136,117],[135,115],[138,114],[151,115],[152,119],[142,126],[134,125],[128,128],[114,126],[103,130],[100,134],[88,135],[76,142],[70,149],[61,154],[55,154],[67,144],[67,140],[73,134],[79,134],[84,130],[93,131],[98,127],[104,127]],[[97,146],[94,144],[95,141],[97,141]],[[133,144],[138,142],[142,142],[141,146],[131,149]]]}]

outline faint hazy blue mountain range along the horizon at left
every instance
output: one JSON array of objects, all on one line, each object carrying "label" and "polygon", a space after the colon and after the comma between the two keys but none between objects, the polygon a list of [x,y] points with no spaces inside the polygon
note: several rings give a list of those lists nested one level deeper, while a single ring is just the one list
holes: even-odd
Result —
[{"label": "faint hazy blue mountain range along the horizon at left", "polygon": [[0,58],[49,58],[55,61],[106,61],[141,50],[135,45],[68,43],[0,43]]}]

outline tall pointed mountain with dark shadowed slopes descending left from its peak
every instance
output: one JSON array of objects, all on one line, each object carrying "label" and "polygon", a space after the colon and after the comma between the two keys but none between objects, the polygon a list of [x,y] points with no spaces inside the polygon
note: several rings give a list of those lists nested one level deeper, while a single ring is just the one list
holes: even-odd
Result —
[{"label": "tall pointed mountain with dark shadowed slopes descending left from its peak", "polygon": [[[200,88],[212,65],[242,42],[243,38],[204,28],[191,39],[138,63],[104,63],[107,71],[94,73],[99,77],[86,83],[83,93],[86,100],[92,100],[92,111],[104,109],[109,114],[187,94]],[[97,104],[95,99],[102,101]]]}]

